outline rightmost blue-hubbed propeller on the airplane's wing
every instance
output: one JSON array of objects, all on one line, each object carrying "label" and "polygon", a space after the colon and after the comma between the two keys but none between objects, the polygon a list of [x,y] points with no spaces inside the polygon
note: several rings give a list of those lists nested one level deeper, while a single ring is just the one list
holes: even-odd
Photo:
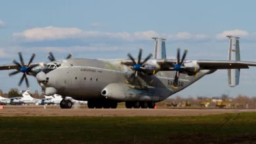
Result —
[{"label": "rightmost blue-hubbed propeller on the airplane's wing", "polygon": [[173,66],[173,70],[176,71],[175,74],[175,79],[173,82],[173,88],[178,88],[178,81],[179,81],[179,75],[181,71],[184,71],[186,67],[184,67],[183,63],[184,63],[184,59],[186,58],[186,53],[188,52],[188,50],[184,50],[182,59],[180,60],[180,48],[177,48],[177,62],[176,64]]}]

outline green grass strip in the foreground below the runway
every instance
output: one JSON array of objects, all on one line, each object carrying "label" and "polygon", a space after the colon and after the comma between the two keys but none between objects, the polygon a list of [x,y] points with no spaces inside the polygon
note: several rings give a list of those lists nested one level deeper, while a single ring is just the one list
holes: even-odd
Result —
[{"label": "green grass strip in the foreground below the runway", "polygon": [[255,136],[256,113],[0,118],[0,143],[241,143]]}]

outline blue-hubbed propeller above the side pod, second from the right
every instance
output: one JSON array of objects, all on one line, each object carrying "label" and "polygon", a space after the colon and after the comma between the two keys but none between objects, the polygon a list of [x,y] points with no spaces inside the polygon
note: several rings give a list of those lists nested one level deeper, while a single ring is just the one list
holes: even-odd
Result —
[{"label": "blue-hubbed propeller above the side pod, second from the right", "polygon": [[[146,62],[150,59],[150,57],[152,56],[152,54],[149,54],[143,62],[141,62],[141,55],[142,55],[142,48],[140,48],[139,50],[139,56],[138,56],[138,61],[135,62],[135,59],[133,58],[133,56],[131,56],[130,53],[127,54],[127,56],[130,58],[130,60],[133,61],[133,65],[130,65],[131,69],[134,70],[134,73],[132,75],[130,75],[129,77],[126,77],[125,81],[127,83],[132,83],[132,84],[139,84],[140,88],[142,86],[141,82],[139,81],[139,79],[137,79],[137,75],[146,75],[146,73],[143,72],[144,65],[146,64]],[[153,81],[150,81],[153,82]]]}]

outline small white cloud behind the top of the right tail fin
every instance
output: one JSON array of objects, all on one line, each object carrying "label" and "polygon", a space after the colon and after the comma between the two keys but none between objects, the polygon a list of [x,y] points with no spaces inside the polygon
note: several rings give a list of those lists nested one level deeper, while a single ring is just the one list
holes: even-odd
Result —
[{"label": "small white cloud behind the top of the right tail fin", "polygon": [[230,31],[223,31],[216,35],[216,39],[227,39],[226,35],[232,35],[236,37],[248,37],[250,34],[247,31],[243,31],[240,29],[234,29]]}]

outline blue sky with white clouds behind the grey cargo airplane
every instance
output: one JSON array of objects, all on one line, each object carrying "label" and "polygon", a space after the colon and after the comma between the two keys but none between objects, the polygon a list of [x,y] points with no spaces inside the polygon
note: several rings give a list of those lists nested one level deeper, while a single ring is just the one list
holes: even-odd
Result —
[{"label": "blue sky with white clouds behind the grey cargo airplane", "polygon": [[[142,57],[154,50],[151,37],[166,38],[167,58],[177,48],[188,48],[188,60],[227,60],[228,38],[240,37],[241,60],[256,62],[256,1],[0,1],[0,65],[25,62],[33,52],[33,62],[49,62],[49,51],[60,60],[72,52],[73,58],[127,58],[127,52]],[[17,88],[22,74],[0,71],[0,89]],[[256,67],[242,69],[240,84],[228,86],[226,70],[206,75],[175,94],[189,96],[256,96]],[[30,91],[41,88],[28,76]],[[26,89],[25,82],[20,90]]]}]

